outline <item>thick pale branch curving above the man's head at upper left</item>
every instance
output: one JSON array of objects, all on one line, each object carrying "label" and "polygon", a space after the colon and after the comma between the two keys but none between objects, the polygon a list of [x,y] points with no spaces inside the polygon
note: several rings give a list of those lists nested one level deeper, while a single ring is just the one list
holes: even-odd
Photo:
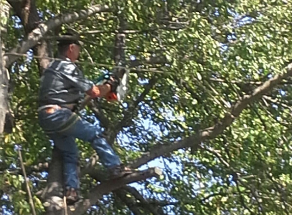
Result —
[{"label": "thick pale branch curving above the man's head at upper left", "polygon": [[[38,41],[42,39],[49,31],[54,30],[56,27],[60,26],[64,23],[71,23],[80,19],[85,19],[88,16],[91,16],[95,13],[105,12],[109,11],[108,6],[99,6],[95,5],[87,10],[81,10],[79,13],[72,13],[72,14],[66,14],[61,17],[56,17],[53,19],[50,19],[46,23],[41,23],[38,25],[36,29],[34,29],[25,40],[21,42],[20,45],[18,45],[16,48],[12,49],[9,52],[16,52],[16,53],[25,53],[30,48],[37,45]],[[18,56],[5,56],[4,62],[5,67],[8,68],[14,61],[18,59]]]}]

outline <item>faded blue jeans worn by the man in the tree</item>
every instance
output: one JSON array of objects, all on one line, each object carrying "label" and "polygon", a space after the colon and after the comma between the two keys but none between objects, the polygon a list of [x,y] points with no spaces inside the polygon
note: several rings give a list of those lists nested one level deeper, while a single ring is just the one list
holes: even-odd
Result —
[{"label": "faded blue jeans worn by the man in the tree", "polygon": [[[72,113],[71,110],[62,108],[52,114],[42,110],[39,112],[39,123],[62,153],[66,187],[79,189],[78,149],[75,138],[90,142],[105,167],[111,168],[121,164],[119,157],[102,137],[101,129]],[[64,124],[65,126],[62,126]]]}]

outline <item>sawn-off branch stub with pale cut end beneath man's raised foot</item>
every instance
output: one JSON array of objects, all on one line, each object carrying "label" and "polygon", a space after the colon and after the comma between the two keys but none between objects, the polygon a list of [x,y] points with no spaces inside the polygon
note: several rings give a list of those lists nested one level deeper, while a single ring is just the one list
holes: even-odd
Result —
[{"label": "sawn-off branch stub with pale cut end beneath man's raised foot", "polygon": [[76,203],[75,211],[71,214],[83,214],[91,205],[95,204],[98,199],[102,198],[104,194],[110,193],[111,191],[114,191],[124,186],[125,184],[145,180],[151,177],[159,177],[160,175],[162,175],[162,171],[159,168],[150,168],[148,170],[133,173],[120,179],[103,181],[93,190],[91,190],[88,199]]}]

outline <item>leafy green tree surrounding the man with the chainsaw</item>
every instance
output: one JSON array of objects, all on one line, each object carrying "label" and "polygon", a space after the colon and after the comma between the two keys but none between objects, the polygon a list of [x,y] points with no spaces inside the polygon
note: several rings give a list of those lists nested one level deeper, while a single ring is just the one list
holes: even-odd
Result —
[{"label": "leafy green tree surrounding the man with the chainsaw", "polygon": [[0,129],[7,111],[14,123],[0,151],[4,214],[32,214],[20,149],[37,214],[57,214],[52,206],[62,202],[61,160],[36,110],[39,75],[68,28],[85,42],[79,66],[89,78],[130,69],[123,103],[93,101],[83,117],[99,120],[123,162],[164,173],[107,184],[89,145],[78,142],[90,201],[69,213],[291,213],[291,1],[8,3]]}]

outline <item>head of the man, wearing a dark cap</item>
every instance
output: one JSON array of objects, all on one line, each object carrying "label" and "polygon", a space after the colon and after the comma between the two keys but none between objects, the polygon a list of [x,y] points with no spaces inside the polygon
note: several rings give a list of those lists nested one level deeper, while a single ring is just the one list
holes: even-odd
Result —
[{"label": "head of the man, wearing a dark cap", "polygon": [[83,42],[78,41],[78,36],[71,33],[62,35],[58,42],[59,55],[69,58],[75,62],[79,57],[79,52]]}]

